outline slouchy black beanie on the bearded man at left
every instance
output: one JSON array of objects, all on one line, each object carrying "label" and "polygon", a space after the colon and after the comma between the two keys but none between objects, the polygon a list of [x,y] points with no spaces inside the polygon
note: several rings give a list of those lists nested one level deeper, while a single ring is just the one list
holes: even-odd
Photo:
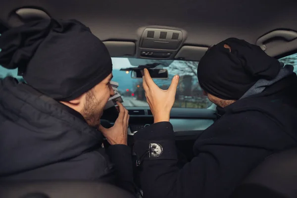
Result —
[{"label": "slouchy black beanie on the bearded man at left", "polygon": [[77,20],[40,20],[0,36],[0,65],[18,68],[33,88],[56,100],[76,99],[112,72],[105,45]]}]

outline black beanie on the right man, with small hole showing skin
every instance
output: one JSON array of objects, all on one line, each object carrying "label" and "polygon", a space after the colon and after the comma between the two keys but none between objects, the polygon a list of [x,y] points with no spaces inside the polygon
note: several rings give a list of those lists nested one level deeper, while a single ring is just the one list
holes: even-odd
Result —
[{"label": "black beanie on the right man, with small hole showing skin", "polygon": [[[224,48],[224,45],[231,48]],[[220,99],[240,99],[259,79],[272,80],[280,62],[259,46],[229,38],[211,47],[201,58],[197,75],[201,88]]]}]

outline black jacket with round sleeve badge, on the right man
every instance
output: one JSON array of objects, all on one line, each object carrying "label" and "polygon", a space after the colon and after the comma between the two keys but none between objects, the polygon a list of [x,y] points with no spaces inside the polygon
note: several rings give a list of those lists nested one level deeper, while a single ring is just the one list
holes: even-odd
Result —
[{"label": "black jacket with round sleeve badge, on the right man", "polygon": [[[195,157],[177,167],[169,122],[134,135],[145,198],[227,198],[268,155],[297,146],[297,77],[227,106],[194,145]],[[154,143],[154,144],[152,144]],[[156,151],[148,148],[157,148]],[[144,153],[148,154],[144,154]],[[145,157],[144,157],[145,156]]]}]

